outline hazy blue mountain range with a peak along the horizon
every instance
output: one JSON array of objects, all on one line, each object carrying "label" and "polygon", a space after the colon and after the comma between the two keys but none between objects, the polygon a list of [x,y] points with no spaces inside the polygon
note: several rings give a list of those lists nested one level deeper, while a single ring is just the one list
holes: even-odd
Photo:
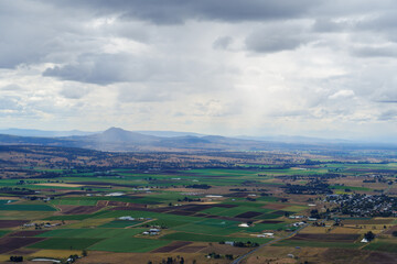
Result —
[{"label": "hazy blue mountain range with a peak along the horizon", "polygon": [[[0,130],[0,144],[32,144],[65,147],[83,147],[98,151],[269,151],[269,150],[325,150],[379,147],[374,144],[358,144],[342,140],[312,138],[226,138],[173,131],[127,131],[110,128],[104,132],[41,131],[8,129]],[[395,148],[380,145],[383,148]]]}]

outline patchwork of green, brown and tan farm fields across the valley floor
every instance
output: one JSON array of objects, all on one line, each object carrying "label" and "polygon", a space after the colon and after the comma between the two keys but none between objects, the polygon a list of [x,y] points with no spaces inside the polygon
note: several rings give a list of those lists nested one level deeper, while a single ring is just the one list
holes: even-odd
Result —
[{"label": "patchwork of green, brown and tan farm fields across the valley floor", "polygon": [[[314,258],[307,252],[322,255],[324,249],[368,256],[394,253],[396,216],[348,216],[332,198],[345,197],[347,202],[376,196],[394,175],[383,175],[384,184],[374,187],[373,180],[365,183],[373,165],[362,164],[360,177],[358,167],[351,164],[297,166],[65,169],[55,178],[0,179],[7,190],[0,197],[0,258],[21,254],[28,262],[37,256],[67,262],[73,253],[84,255],[77,263],[97,263],[106,252],[105,258],[115,257],[109,263],[126,257],[139,260],[133,263],[168,257],[232,263],[249,253],[238,262],[310,263]],[[397,174],[394,164],[377,165],[376,170],[385,166]],[[319,177],[329,183],[321,187],[325,193],[294,194]],[[362,243],[369,231],[375,239]]]}]

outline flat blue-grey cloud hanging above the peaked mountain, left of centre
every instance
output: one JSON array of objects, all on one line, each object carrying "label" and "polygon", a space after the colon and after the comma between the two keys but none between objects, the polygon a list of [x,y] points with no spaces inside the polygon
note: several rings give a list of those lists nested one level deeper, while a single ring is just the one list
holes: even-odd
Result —
[{"label": "flat blue-grey cloud hanging above the peaked mountain, left of centre", "polygon": [[83,54],[77,62],[44,70],[43,76],[62,80],[110,85],[137,81],[184,80],[202,68],[195,62],[118,54]]}]

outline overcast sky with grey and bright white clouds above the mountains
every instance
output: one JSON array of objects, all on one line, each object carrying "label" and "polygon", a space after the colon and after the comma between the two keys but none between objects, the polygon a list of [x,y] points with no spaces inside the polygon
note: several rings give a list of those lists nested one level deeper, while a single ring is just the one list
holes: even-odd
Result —
[{"label": "overcast sky with grey and bright white clouds above the mountains", "polygon": [[394,0],[0,1],[0,128],[393,139]]}]

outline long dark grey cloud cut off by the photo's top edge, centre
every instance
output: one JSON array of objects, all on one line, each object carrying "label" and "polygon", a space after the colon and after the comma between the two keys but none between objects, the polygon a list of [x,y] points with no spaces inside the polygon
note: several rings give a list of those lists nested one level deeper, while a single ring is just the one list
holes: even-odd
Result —
[{"label": "long dark grey cloud cut off by the photo's top edge, centre", "polygon": [[116,13],[155,24],[183,23],[186,20],[225,22],[264,21],[303,15],[318,0],[93,0],[62,1],[64,7],[88,8],[97,14]]}]

